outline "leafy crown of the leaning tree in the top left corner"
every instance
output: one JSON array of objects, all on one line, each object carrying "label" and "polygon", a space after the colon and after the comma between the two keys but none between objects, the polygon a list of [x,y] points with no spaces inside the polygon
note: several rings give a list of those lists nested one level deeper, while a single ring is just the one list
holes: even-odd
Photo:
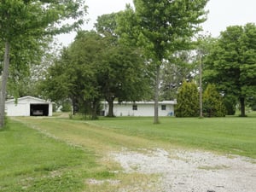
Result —
[{"label": "leafy crown of the leaning tree in the top left corner", "polygon": [[[23,1],[5,0],[0,3],[0,37],[12,41],[15,38],[40,37],[69,32],[82,24],[84,1]],[[60,24],[61,20],[75,19],[73,24]]]}]

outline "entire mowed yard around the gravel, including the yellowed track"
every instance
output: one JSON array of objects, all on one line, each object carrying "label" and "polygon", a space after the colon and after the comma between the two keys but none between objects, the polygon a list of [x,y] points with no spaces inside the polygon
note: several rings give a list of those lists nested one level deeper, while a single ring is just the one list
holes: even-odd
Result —
[{"label": "entire mowed yard around the gravel, including the yellowed track", "polygon": [[[256,117],[212,119],[102,118],[96,121],[16,118],[0,131],[0,191],[115,191],[151,177],[115,174],[110,152],[122,148],[195,148],[256,158]],[[108,158],[107,158],[108,159]],[[136,179],[137,178],[137,179]],[[122,187],[122,185],[119,187]]]}]

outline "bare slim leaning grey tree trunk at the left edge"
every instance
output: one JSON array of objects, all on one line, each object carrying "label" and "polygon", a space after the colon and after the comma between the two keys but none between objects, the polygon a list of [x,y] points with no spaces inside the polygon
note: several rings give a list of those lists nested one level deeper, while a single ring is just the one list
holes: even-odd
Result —
[{"label": "bare slim leaning grey tree trunk at the left edge", "polygon": [[8,80],[8,72],[9,72],[9,49],[10,49],[10,44],[7,41],[5,43],[5,50],[4,50],[5,52],[4,52],[4,59],[3,59],[2,86],[0,91],[0,129],[2,129],[4,125],[6,86],[7,86],[7,80]]}]

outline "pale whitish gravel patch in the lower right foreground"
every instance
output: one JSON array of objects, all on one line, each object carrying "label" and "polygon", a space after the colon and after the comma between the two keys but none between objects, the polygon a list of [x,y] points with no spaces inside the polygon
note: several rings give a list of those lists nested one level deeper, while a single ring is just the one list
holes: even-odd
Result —
[{"label": "pale whitish gravel patch in the lower right foreground", "polygon": [[156,148],[111,157],[124,172],[160,174],[161,192],[256,192],[255,160],[241,156]]}]

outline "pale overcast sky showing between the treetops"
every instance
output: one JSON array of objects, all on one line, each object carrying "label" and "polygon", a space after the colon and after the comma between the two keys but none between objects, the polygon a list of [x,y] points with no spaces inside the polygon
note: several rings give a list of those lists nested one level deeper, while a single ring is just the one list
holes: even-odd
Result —
[{"label": "pale overcast sky showing between the treetops", "polygon": [[[126,3],[133,4],[132,0],[85,0],[85,2],[88,6],[86,19],[90,21],[83,26],[84,30],[92,29],[97,16],[124,10]],[[209,14],[202,26],[204,31],[210,32],[213,37],[218,37],[219,32],[224,31],[227,26],[256,23],[256,0],[210,0],[206,9]],[[75,33],[70,33],[58,39],[60,43],[67,45],[74,37]]]}]

